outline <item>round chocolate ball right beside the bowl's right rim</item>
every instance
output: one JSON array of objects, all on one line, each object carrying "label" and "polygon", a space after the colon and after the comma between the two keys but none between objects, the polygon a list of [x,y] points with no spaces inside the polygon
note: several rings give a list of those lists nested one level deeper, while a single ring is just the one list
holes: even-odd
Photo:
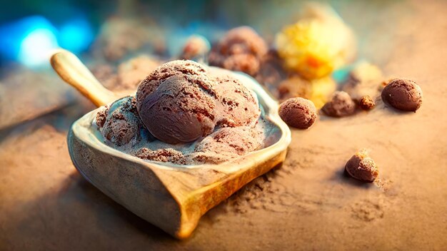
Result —
[{"label": "round chocolate ball right beside the bowl's right rim", "polygon": [[315,123],[316,108],[305,98],[289,98],[279,106],[279,116],[288,126],[307,129]]}]

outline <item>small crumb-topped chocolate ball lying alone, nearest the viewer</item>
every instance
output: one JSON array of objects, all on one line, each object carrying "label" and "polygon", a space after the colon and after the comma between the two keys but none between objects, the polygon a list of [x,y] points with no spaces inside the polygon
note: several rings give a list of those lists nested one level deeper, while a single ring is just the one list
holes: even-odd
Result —
[{"label": "small crumb-topped chocolate ball lying alone, nearest the viewer", "polygon": [[352,178],[366,182],[373,182],[378,176],[377,165],[369,158],[366,150],[359,150],[345,165],[346,173]]}]

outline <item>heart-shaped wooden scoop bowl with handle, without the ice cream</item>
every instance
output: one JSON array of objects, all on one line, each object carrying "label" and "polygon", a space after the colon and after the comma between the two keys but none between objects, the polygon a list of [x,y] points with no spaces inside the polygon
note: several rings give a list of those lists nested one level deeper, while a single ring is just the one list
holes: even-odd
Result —
[{"label": "heart-shaped wooden scoop bowl with handle, without the ice cream", "polygon": [[[59,51],[51,65],[64,81],[96,106],[118,98],[91,75],[76,56]],[[246,183],[283,162],[291,132],[278,116],[278,103],[250,76],[232,75],[258,96],[266,123],[264,148],[219,165],[176,165],[141,160],[104,144],[94,125],[98,109],[76,121],[68,136],[69,153],[79,173],[103,193],[170,235],[189,237],[205,212]],[[234,226],[237,227],[237,226]]]}]

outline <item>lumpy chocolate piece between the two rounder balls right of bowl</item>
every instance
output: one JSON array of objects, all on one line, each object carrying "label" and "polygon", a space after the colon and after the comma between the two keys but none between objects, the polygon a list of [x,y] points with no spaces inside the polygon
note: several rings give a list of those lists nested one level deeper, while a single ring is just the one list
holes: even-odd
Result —
[{"label": "lumpy chocolate piece between the two rounder balls right of bowl", "polygon": [[350,116],[356,111],[356,103],[348,93],[336,91],[331,100],[321,108],[321,111],[331,117]]}]

